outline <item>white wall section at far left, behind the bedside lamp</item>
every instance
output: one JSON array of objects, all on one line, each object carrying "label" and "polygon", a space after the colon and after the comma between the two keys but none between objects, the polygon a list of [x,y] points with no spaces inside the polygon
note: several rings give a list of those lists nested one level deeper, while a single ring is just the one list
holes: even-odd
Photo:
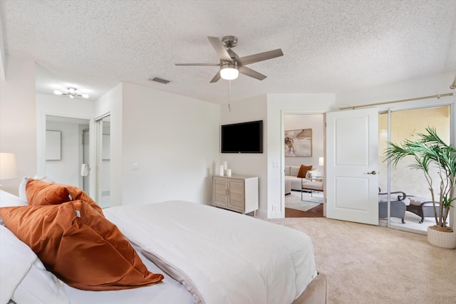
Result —
[{"label": "white wall section at far left, behind the bedside lamp", "polygon": [[14,56],[6,60],[6,79],[0,78],[0,152],[16,154],[17,178],[0,183],[17,195],[22,177],[36,173],[35,63]]}]

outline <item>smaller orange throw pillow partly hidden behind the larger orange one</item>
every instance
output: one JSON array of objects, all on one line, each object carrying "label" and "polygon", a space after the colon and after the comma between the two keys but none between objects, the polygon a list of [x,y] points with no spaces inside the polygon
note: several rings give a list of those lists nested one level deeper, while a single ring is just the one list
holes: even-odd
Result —
[{"label": "smaller orange throw pillow partly hidden behind the larger orange one", "polygon": [[83,201],[87,201],[99,214],[103,214],[101,207],[86,192],[83,192],[78,187],[67,184],[54,184],[36,179],[28,179],[26,195],[28,204],[31,206],[57,205],[66,203],[67,201],[82,199]]}]

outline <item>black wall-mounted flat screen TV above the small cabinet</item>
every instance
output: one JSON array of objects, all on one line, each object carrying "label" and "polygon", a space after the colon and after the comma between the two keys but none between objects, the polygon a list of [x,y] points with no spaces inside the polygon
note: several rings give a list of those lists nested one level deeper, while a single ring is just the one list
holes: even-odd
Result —
[{"label": "black wall-mounted flat screen TV above the small cabinet", "polygon": [[222,153],[263,153],[263,120],[222,125]]}]

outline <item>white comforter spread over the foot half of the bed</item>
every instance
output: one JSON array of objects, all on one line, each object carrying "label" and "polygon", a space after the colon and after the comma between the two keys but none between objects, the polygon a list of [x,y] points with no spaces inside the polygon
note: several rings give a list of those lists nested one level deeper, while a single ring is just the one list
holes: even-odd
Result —
[{"label": "white comforter spread over the foot half of the bed", "polygon": [[201,303],[291,303],[316,277],[306,234],[187,201],[103,210]]}]

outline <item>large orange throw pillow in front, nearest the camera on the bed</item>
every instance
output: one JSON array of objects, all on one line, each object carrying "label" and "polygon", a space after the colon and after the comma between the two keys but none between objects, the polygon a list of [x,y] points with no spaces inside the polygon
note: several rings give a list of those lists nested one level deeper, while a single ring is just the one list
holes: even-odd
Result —
[{"label": "large orange throw pillow in front, nearest the camera on the bed", "polygon": [[74,288],[120,290],[162,281],[120,230],[86,201],[0,208],[6,227]]}]

